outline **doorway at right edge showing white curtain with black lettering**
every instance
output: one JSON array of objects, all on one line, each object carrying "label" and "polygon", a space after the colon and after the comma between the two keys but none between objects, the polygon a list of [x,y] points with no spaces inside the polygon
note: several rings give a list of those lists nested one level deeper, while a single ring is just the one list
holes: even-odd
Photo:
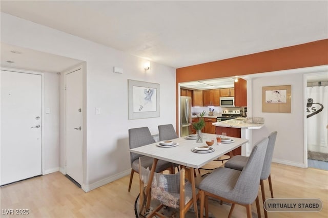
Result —
[{"label": "doorway at right edge showing white curtain with black lettering", "polygon": [[328,170],[328,72],[306,77],[308,167]]}]

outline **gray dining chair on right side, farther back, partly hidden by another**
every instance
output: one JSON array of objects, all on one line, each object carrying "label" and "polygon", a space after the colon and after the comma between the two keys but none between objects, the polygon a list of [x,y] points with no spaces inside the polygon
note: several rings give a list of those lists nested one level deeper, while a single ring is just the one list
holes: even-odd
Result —
[{"label": "gray dining chair on right side, farther back, partly hidden by another", "polygon": [[[269,180],[271,197],[273,198],[273,189],[272,189],[272,182],[271,182],[271,162],[272,162],[273,150],[275,148],[277,134],[278,133],[274,131],[271,132],[271,134],[268,136],[269,143],[268,143],[267,152],[265,153],[265,157],[264,157],[263,169],[262,169],[261,180],[260,180],[263,203],[265,202],[265,192],[264,192],[264,182],[263,182],[264,180],[267,179]],[[224,167],[235,169],[235,170],[242,170],[246,165],[247,161],[248,161],[247,156],[236,155],[232,157],[229,161],[227,161],[224,164]],[[264,216],[265,218],[268,217],[268,213],[266,210],[264,210]]]}]

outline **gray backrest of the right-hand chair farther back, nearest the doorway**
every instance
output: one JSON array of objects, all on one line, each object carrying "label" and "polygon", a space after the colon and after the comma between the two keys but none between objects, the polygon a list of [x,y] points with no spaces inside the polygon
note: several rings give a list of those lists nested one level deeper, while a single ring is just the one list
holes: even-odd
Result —
[{"label": "gray backrest of the right-hand chair farther back, nearest the doorway", "polygon": [[270,172],[271,172],[271,162],[273,157],[273,150],[275,148],[276,138],[277,138],[277,132],[271,132],[269,135],[269,142],[268,142],[268,148],[267,152],[265,153],[264,157],[264,163],[263,163],[263,169],[261,173],[261,180],[268,179]]}]

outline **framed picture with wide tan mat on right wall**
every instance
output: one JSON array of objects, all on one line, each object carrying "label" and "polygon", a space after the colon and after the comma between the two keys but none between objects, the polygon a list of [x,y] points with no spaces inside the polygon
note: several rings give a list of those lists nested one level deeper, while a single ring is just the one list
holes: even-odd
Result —
[{"label": "framed picture with wide tan mat on right wall", "polygon": [[291,85],[262,87],[262,112],[291,113]]}]

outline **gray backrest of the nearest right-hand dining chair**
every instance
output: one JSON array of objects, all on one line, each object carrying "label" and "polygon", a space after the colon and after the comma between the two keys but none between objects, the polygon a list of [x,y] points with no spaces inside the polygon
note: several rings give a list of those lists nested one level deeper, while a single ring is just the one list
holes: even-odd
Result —
[{"label": "gray backrest of the nearest right-hand dining chair", "polygon": [[239,204],[252,204],[255,201],[258,195],[258,184],[260,183],[260,175],[268,141],[269,138],[265,137],[255,144],[232,190],[232,197],[235,202]]}]

